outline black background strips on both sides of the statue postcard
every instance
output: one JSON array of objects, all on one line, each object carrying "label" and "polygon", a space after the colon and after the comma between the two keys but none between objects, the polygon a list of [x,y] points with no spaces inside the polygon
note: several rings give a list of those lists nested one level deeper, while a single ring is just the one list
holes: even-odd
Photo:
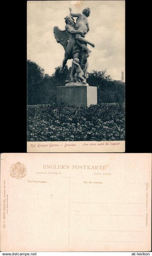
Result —
[{"label": "black background strips on both sides of the statue postcard", "polygon": [[[126,153],[151,152],[151,73],[142,13],[143,3],[126,0]],[[1,7],[0,152],[26,152],[26,4]],[[2,29],[4,28],[4,32]],[[4,71],[2,70],[4,68]]]}]

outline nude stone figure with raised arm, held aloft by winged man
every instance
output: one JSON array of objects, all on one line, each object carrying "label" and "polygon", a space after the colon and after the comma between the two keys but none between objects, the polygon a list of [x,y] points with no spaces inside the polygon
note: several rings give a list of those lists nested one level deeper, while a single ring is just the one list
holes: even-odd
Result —
[{"label": "nude stone figure with raised arm, held aloft by winged man", "polygon": [[[89,15],[90,15],[90,8],[85,8],[82,13],[73,13],[71,7],[69,8],[69,10],[70,10],[70,15],[71,16],[77,17],[76,26],[75,26],[76,30],[83,30],[84,31],[84,35],[86,33],[88,33],[88,31],[89,31],[89,23],[88,23],[87,17],[89,17]],[[86,40],[81,34],[76,34],[76,40],[77,40],[77,43],[83,49],[86,50],[87,57],[89,57],[89,55],[91,53],[91,50],[84,43],[89,44],[92,47],[95,47],[95,45],[93,43],[89,42],[88,40]]]}]

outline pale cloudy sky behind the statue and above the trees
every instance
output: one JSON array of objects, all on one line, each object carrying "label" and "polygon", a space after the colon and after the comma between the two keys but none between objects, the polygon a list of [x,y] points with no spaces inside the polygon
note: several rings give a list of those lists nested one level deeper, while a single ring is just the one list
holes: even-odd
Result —
[{"label": "pale cloudy sky behind the statue and above the trees", "polygon": [[[28,1],[28,59],[49,75],[62,65],[64,48],[56,42],[53,28],[65,29],[69,7],[74,13],[81,13],[86,7],[91,10],[90,30],[85,37],[95,48],[88,45],[92,50],[88,71],[106,69],[112,79],[121,80],[121,73],[125,72],[124,0]],[[68,60],[68,67],[71,64]]]}]

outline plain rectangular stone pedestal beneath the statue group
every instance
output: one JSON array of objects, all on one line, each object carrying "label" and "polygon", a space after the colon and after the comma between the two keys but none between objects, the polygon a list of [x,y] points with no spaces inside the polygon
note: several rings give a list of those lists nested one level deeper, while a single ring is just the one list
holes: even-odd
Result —
[{"label": "plain rectangular stone pedestal beneath the statue group", "polygon": [[70,105],[97,104],[97,87],[94,86],[59,86],[56,88],[57,104],[62,102]]}]

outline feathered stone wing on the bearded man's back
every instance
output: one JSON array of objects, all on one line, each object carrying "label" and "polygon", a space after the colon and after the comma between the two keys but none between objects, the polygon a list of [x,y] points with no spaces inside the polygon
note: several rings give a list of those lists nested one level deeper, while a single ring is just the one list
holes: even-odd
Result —
[{"label": "feathered stone wing on the bearded man's back", "polygon": [[60,30],[58,26],[54,27],[54,36],[58,43],[60,43],[64,50],[66,50],[68,40],[69,40],[69,33],[66,30]]}]

